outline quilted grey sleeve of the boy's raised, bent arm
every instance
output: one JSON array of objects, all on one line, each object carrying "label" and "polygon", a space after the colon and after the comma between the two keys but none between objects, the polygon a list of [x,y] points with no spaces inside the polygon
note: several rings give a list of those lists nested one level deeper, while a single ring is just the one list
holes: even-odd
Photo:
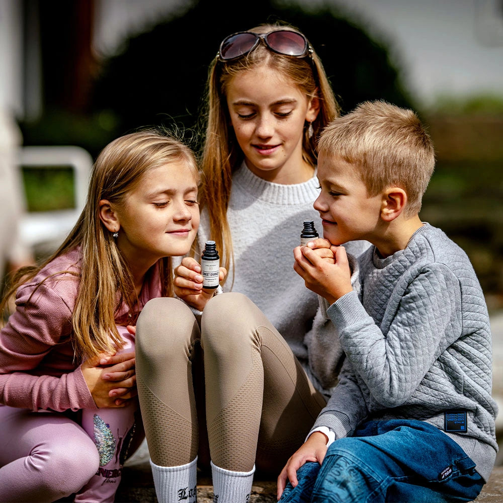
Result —
[{"label": "quilted grey sleeve of the boy's raised, bent arm", "polygon": [[421,270],[401,298],[390,299],[383,320],[385,335],[355,292],[334,302],[327,313],[371,396],[384,407],[396,407],[411,396],[449,346],[445,334],[461,333],[461,290],[446,266],[433,264]]}]

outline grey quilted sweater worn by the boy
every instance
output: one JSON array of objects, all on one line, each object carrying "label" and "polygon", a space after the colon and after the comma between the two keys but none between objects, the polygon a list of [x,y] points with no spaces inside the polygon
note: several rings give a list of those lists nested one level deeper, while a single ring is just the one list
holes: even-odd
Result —
[{"label": "grey quilted sweater worn by the boy", "polygon": [[370,418],[427,421],[465,409],[466,434],[449,433],[489,477],[497,452],[491,334],[484,296],[464,251],[429,224],[407,247],[359,259],[361,292],[327,310],[347,359],[313,427],[336,438]]}]

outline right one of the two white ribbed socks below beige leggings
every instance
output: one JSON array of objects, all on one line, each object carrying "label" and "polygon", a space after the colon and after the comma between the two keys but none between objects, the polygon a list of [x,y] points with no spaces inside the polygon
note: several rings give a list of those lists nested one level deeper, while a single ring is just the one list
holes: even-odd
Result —
[{"label": "right one of the two white ribbed socks below beige leggings", "polygon": [[214,503],[245,503],[249,501],[255,465],[249,472],[224,470],[211,462]]}]

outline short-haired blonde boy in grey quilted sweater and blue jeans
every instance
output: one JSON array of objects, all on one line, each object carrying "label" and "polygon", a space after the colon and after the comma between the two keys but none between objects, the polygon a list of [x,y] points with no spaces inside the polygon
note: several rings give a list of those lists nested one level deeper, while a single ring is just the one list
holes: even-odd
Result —
[{"label": "short-haired blonde boy in grey quilted sweater and blue jeans", "polygon": [[[497,451],[489,318],[464,251],[418,215],[430,137],[412,111],[366,102],[318,150],[324,239],[296,248],[294,268],[329,304],[347,358],[278,478],[279,495],[291,482],[281,501],[472,500]],[[374,245],[359,292],[339,246],[356,239]]]}]

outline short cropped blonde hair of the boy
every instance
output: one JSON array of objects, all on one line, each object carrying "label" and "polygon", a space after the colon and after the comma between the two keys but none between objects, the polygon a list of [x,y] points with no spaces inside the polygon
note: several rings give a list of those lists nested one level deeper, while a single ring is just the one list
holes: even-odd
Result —
[{"label": "short cropped blonde hair of the boy", "polygon": [[400,187],[407,193],[404,215],[421,210],[435,168],[435,149],[412,110],[384,101],[361,103],[323,130],[318,152],[353,164],[369,197],[387,187]]}]

